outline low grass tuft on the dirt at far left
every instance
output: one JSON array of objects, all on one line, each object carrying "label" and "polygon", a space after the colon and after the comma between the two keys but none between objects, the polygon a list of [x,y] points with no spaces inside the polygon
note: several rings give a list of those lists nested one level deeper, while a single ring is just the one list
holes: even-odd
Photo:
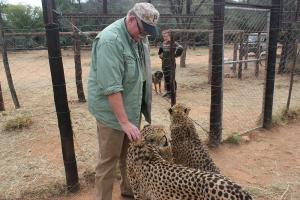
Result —
[{"label": "low grass tuft on the dirt at far left", "polygon": [[19,115],[12,119],[9,119],[4,124],[5,131],[20,130],[28,128],[33,123],[32,119],[28,115]]}]

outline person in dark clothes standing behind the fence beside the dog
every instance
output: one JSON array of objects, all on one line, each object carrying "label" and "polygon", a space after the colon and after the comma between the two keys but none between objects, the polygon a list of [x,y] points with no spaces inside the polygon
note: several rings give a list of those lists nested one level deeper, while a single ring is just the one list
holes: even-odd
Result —
[{"label": "person in dark clothes standing behind the fence beside the dog", "polygon": [[[165,94],[163,97],[170,98],[171,97],[171,72],[172,68],[174,67],[174,76],[175,76],[175,69],[176,69],[176,62],[175,58],[181,56],[183,52],[183,48],[180,44],[177,42],[174,43],[175,45],[175,51],[174,51],[174,56],[173,58],[170,58],[170,44],[171,44],[171,33],[170,30],[164,30],[162,32],[163,36],[163,43],[160,45],[160,48],[158,50],[158,55],[162,59],[162,71],[164,74],[164,79],[165,79]],[[171,66],[172,60],[175,66]],[[175,90],[176,90],[176,82],[175,82]]]}]

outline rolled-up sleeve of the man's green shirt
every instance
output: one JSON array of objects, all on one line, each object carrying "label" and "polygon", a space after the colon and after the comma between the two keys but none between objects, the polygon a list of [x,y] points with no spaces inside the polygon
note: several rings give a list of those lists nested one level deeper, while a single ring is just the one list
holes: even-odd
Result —
[{"label": "rolled-up sleeve of the man's green shirt", "polygon": [[124,59],[122,45],[109,41],[97,45],[96,79],[104,95],[123,91]]}]

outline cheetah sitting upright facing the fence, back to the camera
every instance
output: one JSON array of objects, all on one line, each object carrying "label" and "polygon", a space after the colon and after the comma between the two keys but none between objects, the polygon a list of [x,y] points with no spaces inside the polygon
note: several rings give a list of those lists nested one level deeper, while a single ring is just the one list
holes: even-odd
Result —
[{"label": "cheetah sitting upright facing the fence, back to the camera", "polygon": [[220,173],[208,150],[202,144],[195,125],[188,116],[189,112],[190,108],[183,104],[175,104],[169,109],[170,143],[174,162],[201,171]]}]

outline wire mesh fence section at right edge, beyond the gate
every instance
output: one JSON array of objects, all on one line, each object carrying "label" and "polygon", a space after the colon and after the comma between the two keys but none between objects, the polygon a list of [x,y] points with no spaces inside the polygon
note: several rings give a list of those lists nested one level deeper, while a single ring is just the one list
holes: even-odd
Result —
[{"label": "wire mesh fence section at right edge, beyond the gate", "polygon": [[298,16],[299,4],[296,1],[283,1],[276,59],[277,68],[273,111],[275,119],[287,110],[290,110],[292,113],[297,112],[300,107],[300,27]]}]

